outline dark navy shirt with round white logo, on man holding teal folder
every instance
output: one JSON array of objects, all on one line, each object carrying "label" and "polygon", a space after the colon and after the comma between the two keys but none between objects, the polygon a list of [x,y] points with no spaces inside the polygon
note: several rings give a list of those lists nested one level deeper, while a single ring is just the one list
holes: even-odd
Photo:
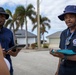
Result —
[{"label": "dark navy shirt with round white logo, on man holding teal folder", "polygon": [[[64,30],[61,33],[60,36],[60,48],[65,49],[65,42],[68,36],[71,35],[69,32],[67,36],[67,30]],[[73,36],[71,37],[70,44],[67,45],[67,49],[71,49],[74,52],[76,52],[76,31],[74,32]],[[59,67],[59,74],[58,75],[76,75],[76,61],[71,60],[64,60],[61,61],[60,67]]]}]

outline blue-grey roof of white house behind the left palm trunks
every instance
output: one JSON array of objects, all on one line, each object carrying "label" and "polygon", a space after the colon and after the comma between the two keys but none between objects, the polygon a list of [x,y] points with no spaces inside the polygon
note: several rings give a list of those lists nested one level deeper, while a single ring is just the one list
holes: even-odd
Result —
[{"label": "blue-grey roof of white house behind the left palm trunks", "polygon": [[[29,32],[29,31],[27,32],[27,34],[28,34],[28,38],[34,38],[34,37],[36,38],[37,37],[37,35]],[[25,30],[17,30],[15,32],[15,35],[17,38],[25,38],[26,37]]]}]

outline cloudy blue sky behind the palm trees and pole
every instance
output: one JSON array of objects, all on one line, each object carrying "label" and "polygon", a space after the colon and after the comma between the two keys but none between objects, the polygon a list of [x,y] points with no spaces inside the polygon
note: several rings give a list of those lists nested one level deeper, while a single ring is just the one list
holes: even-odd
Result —
[{"label": "cloudy blue sky behind the palm trees and pole", "polygon": [[[0,6],[4,7],[4,9],[10,9],[12,12],[14,12],[16,6],[24,5],[26,7],[29,3],[32,3],[35,10],[37,10],[37,0],[0,0]],[[76,5],[76,0],[40,0],[40,14],[47,16],[51,20],[51,29],[48,30],[48,34],[46,33],[45,37],[66,28],[64,21],[58,19],[58,15],[63,12],[67,5]],[[29,21],[28,31],[31,32],[32,26]],[[37,31],[35,30],[33,33],[36,34]]]}]

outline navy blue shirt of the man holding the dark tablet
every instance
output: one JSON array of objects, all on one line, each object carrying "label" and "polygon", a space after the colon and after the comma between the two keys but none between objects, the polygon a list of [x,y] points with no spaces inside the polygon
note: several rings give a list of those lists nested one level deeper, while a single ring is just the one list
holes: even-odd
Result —
[{"label": "navy blue shirt of the man holding the dark tablet", "polygon": [[[9,30],[5,27],[1,28],[1,30],[0,30],[0,44],[1,44],[2,48],[4,48],[5,50],[14,46],[13,33],[11,32],[11,30]],[[10,55],[7,54],[5,58],[10,62],[11,72],[13,72]]]}]

